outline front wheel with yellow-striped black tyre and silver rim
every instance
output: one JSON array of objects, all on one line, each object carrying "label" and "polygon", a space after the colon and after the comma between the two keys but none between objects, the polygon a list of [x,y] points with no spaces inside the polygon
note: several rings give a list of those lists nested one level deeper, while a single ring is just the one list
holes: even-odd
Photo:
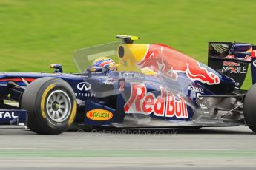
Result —
[{"label": "front wheel with yellow-striped black tyre and silver rim", "polygon": [[38,78],[24,90],[21,109],[27,110],[27,126],[42,135],[59,135],[76,118],[76,97],[59,78]]}]

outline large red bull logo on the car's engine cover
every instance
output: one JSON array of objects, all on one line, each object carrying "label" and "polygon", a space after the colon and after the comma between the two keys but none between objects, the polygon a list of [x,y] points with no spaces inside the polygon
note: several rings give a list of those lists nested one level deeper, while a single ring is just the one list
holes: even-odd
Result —
[{"label": "large red bull logo on the car's engine cover", "polygon": [[198,61],[161,45],[150,45],[145,58],[137,63],[137,67],[151,69],[174,81],[177,81],[177,72],[183,72],[191,81],[208,85],[220,84],[220,78],[214,72],[209,72],[206,67],[202,67]]}]

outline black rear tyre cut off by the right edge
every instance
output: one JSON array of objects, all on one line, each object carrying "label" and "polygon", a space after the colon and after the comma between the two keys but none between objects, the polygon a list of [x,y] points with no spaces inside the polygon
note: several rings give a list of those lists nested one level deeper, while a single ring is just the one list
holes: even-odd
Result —
[{"label": "black rear tyre cut off by the right edge", "polygon": [[256,84],[246,93],[243,101],[243,115],[247,126],[256,133]]}]

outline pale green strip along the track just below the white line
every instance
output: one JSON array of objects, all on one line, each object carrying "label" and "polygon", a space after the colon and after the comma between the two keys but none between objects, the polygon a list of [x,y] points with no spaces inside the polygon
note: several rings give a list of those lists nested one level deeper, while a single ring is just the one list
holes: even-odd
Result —
[{"label": "pale green strip along the track just below the white line", "polygon": [[90,149],[0,149],[1,157],[255,157],[255,150],[90,150]]}]

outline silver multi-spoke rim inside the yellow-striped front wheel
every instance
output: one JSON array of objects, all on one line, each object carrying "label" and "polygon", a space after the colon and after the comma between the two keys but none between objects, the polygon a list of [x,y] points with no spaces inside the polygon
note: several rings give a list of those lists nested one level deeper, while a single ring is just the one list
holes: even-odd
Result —
[{"label": "silver multi-spoke rim inside the yellow-striped front wheel", "polygon": [[47,115],[55,122],[63,122],[70,115],[71,102],[68,94],[62,90],[55,90],[47,98]]}]

